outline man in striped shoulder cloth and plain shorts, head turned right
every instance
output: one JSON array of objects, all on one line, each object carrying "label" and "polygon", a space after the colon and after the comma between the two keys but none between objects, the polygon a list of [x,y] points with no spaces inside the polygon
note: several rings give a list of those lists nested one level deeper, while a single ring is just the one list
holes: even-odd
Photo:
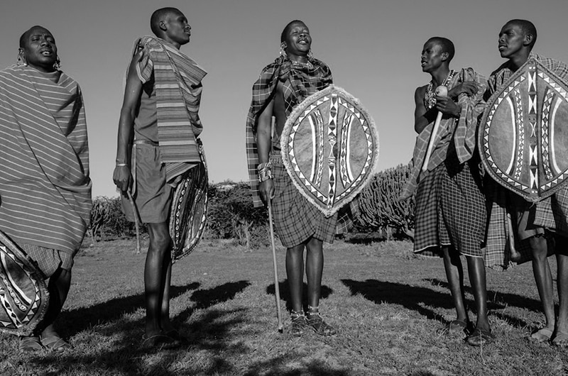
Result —
[{"label": "man in striped shoulder cloth and plain shorts, head turned right", "polygon": [[114,170],[127,218],[134,221],[136,216],[125,197],[131,189],[141,220],[148,224],[143,336],[143,346],[148,348],[187,342],[170,322],[172,240],[168,221],[173,187],[180,174],[200,163],[197,136],[202,123],[198,110],[201,80],[206,74],[179,50],[190,42],[191,35],[182,12],[158,9],[151,16],[151,29],[155,37],[134,43]]}]

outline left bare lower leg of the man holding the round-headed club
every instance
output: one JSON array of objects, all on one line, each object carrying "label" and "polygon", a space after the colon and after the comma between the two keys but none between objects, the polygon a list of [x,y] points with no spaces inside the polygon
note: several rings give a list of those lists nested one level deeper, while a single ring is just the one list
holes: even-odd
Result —
[{"label": "left bare lower leg of the man holding the round-headed club", "polygon": [[[465,307],[464,296],[464,268],[461,266],[459,254],[452,247],[442,247],[444,258],[444,269],[449,284],[449,291],[452,293],[457,319],[450,321],[447,326],[449,331],[454,329],[463,330],[469,324],[469,317]],[[461,323],[464,324],[461,327]]]}]

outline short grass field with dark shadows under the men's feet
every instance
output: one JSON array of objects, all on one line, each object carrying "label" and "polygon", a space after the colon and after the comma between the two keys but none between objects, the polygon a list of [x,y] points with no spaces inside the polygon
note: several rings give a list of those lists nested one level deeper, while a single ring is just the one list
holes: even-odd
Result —
[{"label": "short grass field with dark shadows under the men's feet", "polygon": [[[17,338],[0,335],[2,375],[568,375],[567,350],[526,338],[543,320],[530,265],[487,271],[497,339],[471,348],[464,336],[437,334],[454,319],[442,260],[414,257],[411,243],[337,241],[325,248],[320,306],[339,333],[294,338],[285,250],[280,334],[270,249],[204,240],[173,266],[173,321],[191,343],[148,352],[139,348],[146,255],[134,249],[115,240],[82,250],[59,326],[74,348],[22,355]],[[473,306],[469,290],[466,298]]]}]

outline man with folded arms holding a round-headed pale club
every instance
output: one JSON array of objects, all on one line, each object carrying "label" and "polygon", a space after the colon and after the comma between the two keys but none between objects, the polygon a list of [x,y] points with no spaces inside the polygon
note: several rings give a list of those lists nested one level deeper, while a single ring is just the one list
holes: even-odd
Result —
[{"label": "man with folded arms holding a round-headed pale club", "polygon": [[[415,252],[442,255],[444,259],[457,319],[449,321],[442,332],[466,331],[469,345],[481,345],[493,339],[487,317],[481,251],[486,207],[479,176],[479,155],[475,150],[486,80],[471,68],[450,70],[453,57],[454,44],[447,38],[430,38],[422,50],[422,72],[430,73],[432,80],[415,92],[415,131],[419,136],[413,170],[402,197],[410,197],[416,189]],[[447,96],[435,95],[439,85],[447,87]],[[432,135],[438,112],[443,114],[442,121],[437,134]],[[427,170],[421,171],[431,137],[435,137],[435,148]],[[472,332],[464,306],[460,255],[466,257],[476,302],[477,321]]]}]

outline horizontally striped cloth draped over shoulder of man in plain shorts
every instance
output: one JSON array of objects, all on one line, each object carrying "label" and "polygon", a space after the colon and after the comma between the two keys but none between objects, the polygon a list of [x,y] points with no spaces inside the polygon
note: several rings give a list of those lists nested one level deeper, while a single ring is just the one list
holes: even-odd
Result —
[{"label": "horizontally striped cloth draped over shoulder of man in plain shorts", "polygon": [[166,181],[171,182],[201,161],[195,138],[203,130],[198,111],[201,81],[207,72],[159,38],[139,38],[132,55],[140,50],[136,72],[143,83],[154,75],[160,157],[165,163]]}]

